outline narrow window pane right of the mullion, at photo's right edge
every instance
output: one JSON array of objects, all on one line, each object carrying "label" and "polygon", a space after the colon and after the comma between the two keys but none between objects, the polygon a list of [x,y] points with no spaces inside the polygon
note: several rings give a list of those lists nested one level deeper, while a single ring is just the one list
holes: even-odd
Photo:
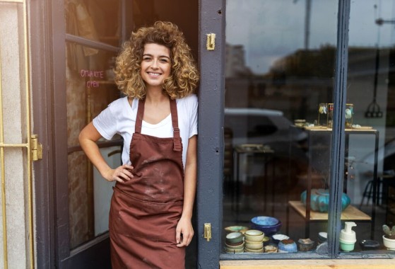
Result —
[{"label": "narrow window pane right of the mullion, at photo's right edge", "polygon": [[394,18],[394,1],[351,1],[346,120],[360,133],[349,135],[345,188],[370,216],[355,222],[353,251],[387,250],[382,225],[395,224]]}]

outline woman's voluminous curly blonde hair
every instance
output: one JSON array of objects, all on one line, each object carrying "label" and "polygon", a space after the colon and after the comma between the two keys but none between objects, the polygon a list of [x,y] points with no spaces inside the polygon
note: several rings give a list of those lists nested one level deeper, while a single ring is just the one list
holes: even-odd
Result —
[{"label": "woman's voluminous curly blonde hair", "polygon": [[194,90],[199,82],[199,71],[177,25],[157,21],[151,27],[143,27],[131,33],[117,57],[115,83],[122,93],[131,98],[144,98],[146,84],[141,78],[141,61],[144,45],[155,43],[170,49],[171,71],[163,81],[164,93],[170,98],[183,98]]}]

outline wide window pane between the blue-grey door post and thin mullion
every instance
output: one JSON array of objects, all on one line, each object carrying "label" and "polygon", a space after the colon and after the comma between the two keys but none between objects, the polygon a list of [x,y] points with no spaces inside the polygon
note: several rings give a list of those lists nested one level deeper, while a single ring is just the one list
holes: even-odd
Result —
[{"label": "wide window pane between the blue-grey door post and thin mullion", "polygon": [[227,1],[223,253],[324,248],[337,11],[336,0]]}]

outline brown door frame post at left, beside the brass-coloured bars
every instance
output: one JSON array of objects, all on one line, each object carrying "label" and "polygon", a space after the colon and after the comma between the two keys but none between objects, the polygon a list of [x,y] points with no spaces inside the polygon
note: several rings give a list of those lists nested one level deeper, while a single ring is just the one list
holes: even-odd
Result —
[{"label": "brown door frame post at left, beside the brass-coloured bars", "polygon": [[33,132],[42,144],[42,159],[33,163],[35,189],[35,265],[54,268],[54,153],[52,149],[52,96],[54,88],[52,1],[29,1],[30,81]]}]

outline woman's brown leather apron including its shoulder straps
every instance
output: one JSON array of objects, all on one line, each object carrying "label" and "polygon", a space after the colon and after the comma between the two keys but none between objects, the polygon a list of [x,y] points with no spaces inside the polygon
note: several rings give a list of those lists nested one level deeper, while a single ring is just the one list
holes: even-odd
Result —
[{"label": "woman's brown leather apron including its shoulder straps", "polygon": [[159,138],[141,134],[144,102],[130,144],[134,178],[117,183],[111,200],[112,268],[184,268],[185,248],[175,241],[184,200],[177,105],[170,101],[173,137]]}]

